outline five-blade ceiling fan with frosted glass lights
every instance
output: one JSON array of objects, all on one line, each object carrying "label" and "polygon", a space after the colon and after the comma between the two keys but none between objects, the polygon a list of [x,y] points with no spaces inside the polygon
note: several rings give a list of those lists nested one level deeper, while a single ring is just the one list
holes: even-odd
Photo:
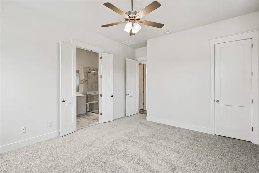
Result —
[{"label": "five-blade ceiling fan with frosted glass lights", "polygon": [[105,5],[106,7],[110,8],[114,12],[123,16],[125,21],[110,23],[110,24],[107,24],[107,25],[102,25],[101,27],[105,28],[105,27],[110,27],[110,26],[113,26],[113,25],[119,25],[119,24],[122,24],[122,23],[127,23],[124,31],[126,31],[130,35],[135,35],[141,29],[141,26],[139,24],[147,25],[147,26],[151,26],[151,27],[156,27],[156,28],[162,28],[164,26],[164,24],[162,24],[162,23],[151,22],[151,21],[148,21],[148,20],[140,20],[143,16],[149,14],[150,12],[156,10],[158,7],[161,6],[161,4],[158,3],[158,1],[154,1],[151,4],[147,5],[140,12],[133,11],[133,0],[131,0],[131,11],[128,11],[126,13],[124,13],[123,11],[121,11],[120,9],[118,9],[117,7],[115,7],[114,5],[112,5],[109,2],[104,3],[103,5]]}]

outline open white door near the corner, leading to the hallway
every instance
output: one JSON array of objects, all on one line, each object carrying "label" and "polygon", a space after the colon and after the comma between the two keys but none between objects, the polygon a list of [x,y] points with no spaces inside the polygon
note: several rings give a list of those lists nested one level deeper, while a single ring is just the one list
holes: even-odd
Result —
[{"label": "open white door near the corner, leading to the hallway", "polygon": [[126,60],[126,116],[139,112],[139,62]]}]

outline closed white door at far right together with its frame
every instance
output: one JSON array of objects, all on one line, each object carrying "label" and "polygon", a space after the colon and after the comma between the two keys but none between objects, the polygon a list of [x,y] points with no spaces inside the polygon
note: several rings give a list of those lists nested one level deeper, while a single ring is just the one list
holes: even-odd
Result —
[{"label": "closed white door at far right together with its frame", "polygon": [[211,134],[258,144],[258,31],[210,39]]}]

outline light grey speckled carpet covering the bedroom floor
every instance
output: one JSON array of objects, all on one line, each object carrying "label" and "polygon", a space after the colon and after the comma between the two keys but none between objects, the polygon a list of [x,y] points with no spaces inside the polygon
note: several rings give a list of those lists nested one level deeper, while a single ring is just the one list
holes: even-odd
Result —
[{"label": "light grey speckled carpet covering the bedroom floor", "polygon": [[259,172],[256,144],[135,114],[1,154],[1,172]]}]

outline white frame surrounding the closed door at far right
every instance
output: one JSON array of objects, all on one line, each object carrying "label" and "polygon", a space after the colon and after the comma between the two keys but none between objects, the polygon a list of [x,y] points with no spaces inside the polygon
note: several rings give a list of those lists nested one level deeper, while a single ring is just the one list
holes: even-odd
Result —
[{"label": "white frame surrounding the closed door at far right", "polygon": [[258,30],[210,39],[210,133],[215,135],[215,44],[252,39],[252,142],[258,144]]}]

